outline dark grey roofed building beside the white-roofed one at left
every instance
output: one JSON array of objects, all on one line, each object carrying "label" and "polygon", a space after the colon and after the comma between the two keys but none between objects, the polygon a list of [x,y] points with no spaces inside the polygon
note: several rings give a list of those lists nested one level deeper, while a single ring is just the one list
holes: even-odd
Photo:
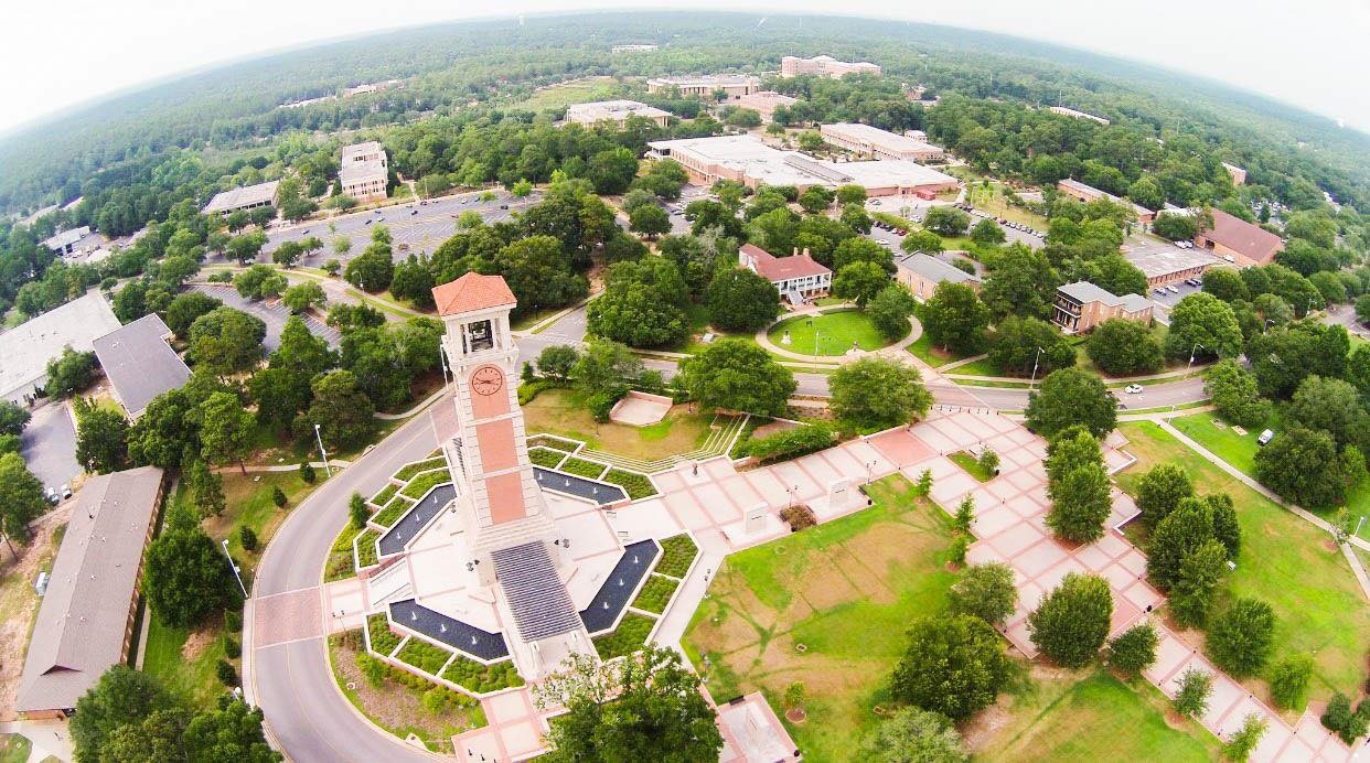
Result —
[{"label": "dark grey roofed building beside the white-roofed one at left", "polygon": [[95,340],[95,355],[114,388],[114,397],[137,421],[148,403],[163,392],[179,389],[190,368],[171,349],[171,329],[149,312]]}]

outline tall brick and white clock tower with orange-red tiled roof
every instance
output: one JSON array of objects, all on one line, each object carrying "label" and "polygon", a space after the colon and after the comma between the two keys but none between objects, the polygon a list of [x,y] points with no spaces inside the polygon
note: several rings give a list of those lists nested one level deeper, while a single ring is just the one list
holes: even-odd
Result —
[{"label": "tall brick and white clock tower with orange-red tiled roof", "polygon": [[492,553],[534,542],[559,567],[556,526],[527,458],[515,388],[518,348],[508,321],[518,304],[514,293],[499,275],[467,273],[433,289],[433,297],[447,327],[443,353],[458,422],[443,449],[480,581],[496,582]]}]

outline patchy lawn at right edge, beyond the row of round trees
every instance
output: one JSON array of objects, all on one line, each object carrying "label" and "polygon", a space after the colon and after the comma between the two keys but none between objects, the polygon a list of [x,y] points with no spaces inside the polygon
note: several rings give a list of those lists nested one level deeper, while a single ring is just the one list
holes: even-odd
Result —
[{"label": "patchy lawn at right edge, beyond the row of round trees", "polygon": [[[1228,578],[1232,596],[1267,601],[1275,612],[1271,662],[1291,653],[1314,658],[1310,696],[1326,699],[1333,689],[1352,692],[1365,681],[1370,649],[1370,607],[1341,552],[1326,533],[1275,505],[1232,475],[1208,463],[1152,422],[1118,426],[1130,440],[1137,464],[1118,475],[1136,495],[1137,479],[1158,463],[1174,463],[1193,479],[1200,493],[1226,492],[1237,505],[1241,555]],[[1128,527],[1143,541],[1140,523]],[[1219,607],[1223,603],[1219,603]],[[1266,697],[1262,681],[1245,685]]]}]

